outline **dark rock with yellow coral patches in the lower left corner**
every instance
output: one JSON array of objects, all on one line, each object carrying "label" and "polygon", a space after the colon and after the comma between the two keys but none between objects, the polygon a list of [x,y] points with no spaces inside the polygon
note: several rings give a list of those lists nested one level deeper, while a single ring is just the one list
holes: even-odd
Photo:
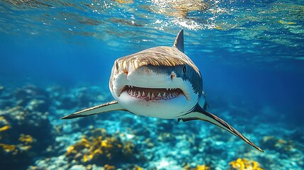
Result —
[{"label": "dark rock with yellow coral patches in the lower left corner", "polygon": [[0,126],[0,164],[11,169],[26,169],[54,142],[47,113],[16,106],[1,113]]}]

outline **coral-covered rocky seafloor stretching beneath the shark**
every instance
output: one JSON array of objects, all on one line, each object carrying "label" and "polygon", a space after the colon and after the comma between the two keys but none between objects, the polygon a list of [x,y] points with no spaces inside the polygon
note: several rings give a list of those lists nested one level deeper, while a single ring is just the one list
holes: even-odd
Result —
[{"label": "coral-covered rocky seafloor stretching beneath the shark", "polygon": [[123,111],[60,120],[111,100],[99,86],[0,86],[1,169],[304,169],[302,129],[229,104],[210,111],[264,153],[202,121]]}]

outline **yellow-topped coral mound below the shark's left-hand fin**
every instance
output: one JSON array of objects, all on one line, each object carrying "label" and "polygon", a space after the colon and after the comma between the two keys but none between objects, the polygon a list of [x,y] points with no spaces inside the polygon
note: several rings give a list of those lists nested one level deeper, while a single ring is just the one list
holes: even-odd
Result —
[{"label": "yellow-topped coral mound below the shark's left-hand fin", "polygon": [[66,157],[81,164],[98,165],[144,160],[133,142],[122,142],[119,135],[109,135],[104,129],[92,130],[89,135],[67,147]]}]

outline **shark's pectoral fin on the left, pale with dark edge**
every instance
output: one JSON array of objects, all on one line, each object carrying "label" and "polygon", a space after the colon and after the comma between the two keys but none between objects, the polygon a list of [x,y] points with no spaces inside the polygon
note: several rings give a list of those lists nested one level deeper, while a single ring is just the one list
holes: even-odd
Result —
[{"label": "shark's pectoral fin on the left, pale with dark edge", "polygon": [[80,118],[88,115],[95,115],[98,113],[104,113],[108,111],[126,111],[123,106],[121,106],[117,101],[110,101],[108,103],[103,103],[98,106],[94,106],[91,108],[86,108],[82,111],[78,111],[76,113],[72,113],[70,115],[66,115],[60,119],[72,119],[72,118]]}]

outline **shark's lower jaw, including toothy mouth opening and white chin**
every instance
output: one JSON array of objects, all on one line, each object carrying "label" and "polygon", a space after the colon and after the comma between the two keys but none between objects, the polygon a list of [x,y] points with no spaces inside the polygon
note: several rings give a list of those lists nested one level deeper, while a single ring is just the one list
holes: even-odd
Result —
[{"label": "shark's lower jaw, including toothy mouth opening and white chin", "polygon": [[126,110],[136,115],[154,118],[179,118],[191,111],[193,101],[188,101],[181,89],[159,87],[123,86],[114,98]]}]

